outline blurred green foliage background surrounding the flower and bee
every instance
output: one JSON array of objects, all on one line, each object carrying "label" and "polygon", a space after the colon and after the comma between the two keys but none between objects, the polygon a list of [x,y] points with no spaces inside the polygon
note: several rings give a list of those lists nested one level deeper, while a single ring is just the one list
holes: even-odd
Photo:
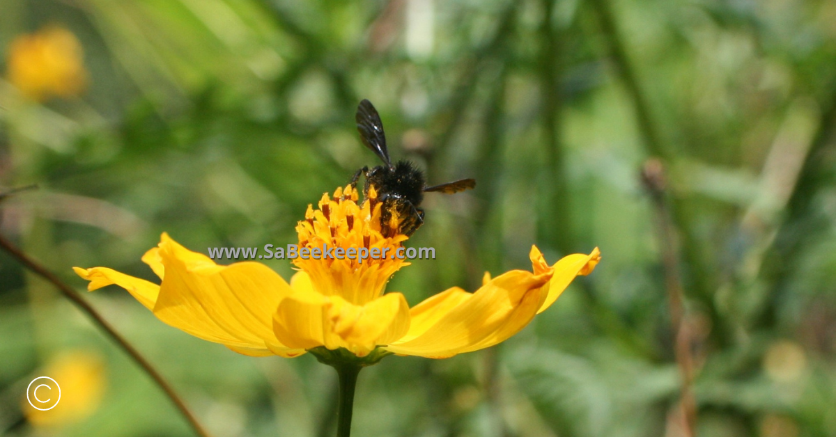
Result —
[{"label": "blurred green foliage background surrounding the flower and bee", "polygon": [[[393,157],[431,182],[388,289],[411,304],[485,270],[603,261],[497,348],[387,358],[360,375],[354,434],[678,435],[680,379],[660,241],[639,171],[665,163],[695,333],[698,434],[836,435],[836,3],[829,0],[2,0],[0,58],[59,23],[89,87],[23,100],[0,80],[2,232],[79,292],[70,267],[150,279],[162,231],[192,250],[283,245],[308,203]],[[3,67],[3,71],[5,68]],[[283,276],[289,262],[268,263]],[[84,294],[217,436],[333,434],[314,358],[248,358]],[[109,387],[63,429],[19,416],[54,353],[98,351]],[[666,430],[667,429],[667,430]],[[0,254],[0,434],[191,435],[119,349]]]}]

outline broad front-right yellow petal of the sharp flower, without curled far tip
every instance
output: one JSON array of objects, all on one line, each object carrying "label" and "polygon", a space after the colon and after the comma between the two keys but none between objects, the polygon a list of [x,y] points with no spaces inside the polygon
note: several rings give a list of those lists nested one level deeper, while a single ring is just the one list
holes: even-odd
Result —
[{"label": "broad front-right yellow petal of the sharp flower, without curled far tip", "polygon": [[454,288],[431,297],[413,309],[417,323],[405,340],[386,349],[446,358],[496,344],[531,321],[550,278],[550,272],[535,275],[515,270],[493,278],[470,296]]}]

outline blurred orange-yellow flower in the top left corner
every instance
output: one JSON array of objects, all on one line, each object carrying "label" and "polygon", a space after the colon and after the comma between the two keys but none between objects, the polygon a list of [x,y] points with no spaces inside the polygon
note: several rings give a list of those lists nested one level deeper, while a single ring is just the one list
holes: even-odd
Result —
[{"label": "blurred orange-yellow flower in the top left corner", "polygon": [[81,43],[59,27],[20,35],[8,49],[8,79],[38,101],[78,95],[87,82]]}]

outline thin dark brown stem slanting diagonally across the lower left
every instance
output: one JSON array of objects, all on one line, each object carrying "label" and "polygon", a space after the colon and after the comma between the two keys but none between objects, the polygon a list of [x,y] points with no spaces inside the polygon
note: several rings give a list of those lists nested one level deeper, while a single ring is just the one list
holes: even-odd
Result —
[{"label": "thin dark brown stem slanting diagonally across the lower left", "polygon": [[160,386],[162,391],[166,393],[166,396],[168,396],[168,399],[171,400],[171,403],[175,405],[175,407],[180,411],[180,414],[182,414],[182,416],[189,422],[191,428],[194,429],[195,434],[200,435],[201,437],[210,437],[210,435],[206,432],[206,429],[203,429],[201,424],[197,422],[195,416],[191,414],[191,411],[186,408],[186,404],[182,399],[180,399],[180,396],[178,396],[174,389],[171,388],[171,385],[166,382],[166,379],[163,379],[162,375],[157,372],[154,366],[152,366],[151,363],[149,363],[148,360],[146,360],[139,353],[139,351],[131,346],[125,338],[123,338],[119,333],[116,333],[115,329],[110,326],[110,323],[104,320],[104,318],[96,312],[94,307],[91,307],[89,303],[84,301],[84,299],[78,295],[78,293],[74,292],[72,288],[56,277],[53,272],[49,272],[46,267],[43,267],[40,263],[33,260],[17,246],[14,246],[11,241],[6,240],[3,236],[0,236],[0,247],[3,247],[3,250],[17,259],[24,267],[53,284],[59,289],[64,297],[67,297],[70,302],[73,302],[76,307],[79,307],[82,313],[86,314],[96,324],[96,326],[104,331],[104,333],[107,333],[110,339],[122,348],[125,353],[130,355],[130,358],[133,358],[135,363],[139,364],[140,368],[142,368],[142,370],[144,370],[145,373],[147,373],[148,376],[154,380],[155,384]]}]

